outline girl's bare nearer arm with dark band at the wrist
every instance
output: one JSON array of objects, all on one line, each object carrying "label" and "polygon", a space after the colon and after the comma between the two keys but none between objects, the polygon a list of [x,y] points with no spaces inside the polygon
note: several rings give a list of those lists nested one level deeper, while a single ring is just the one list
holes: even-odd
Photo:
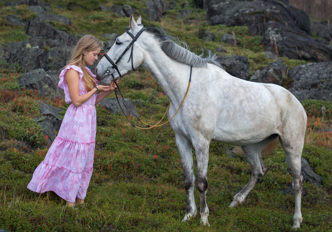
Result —
[{"label": "girl's bare nearer arm with dark band at the wrist", "polygon": [[[92,88],[92,90],[90,90],[89,92],[87,92],[83,95],[80,95],[79,94],[79,79],[80,79],[80,75],[77,71],[75,71],[74,69],[67,70],[66,75],[65,75],[65,81],[68,85],[71,101],[75,107],[81,106],[90,97],[92,97],[92,95],[95,92],[97,92],[96,88]],[[109,87],[109,86],[98,86],[99,91],[109,91],[110,89],[111,89],[111,87]]]}]

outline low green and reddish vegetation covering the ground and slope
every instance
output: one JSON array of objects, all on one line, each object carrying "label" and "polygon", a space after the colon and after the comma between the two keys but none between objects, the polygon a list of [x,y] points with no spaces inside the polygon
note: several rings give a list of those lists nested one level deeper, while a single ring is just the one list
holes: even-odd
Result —
[{"label": "low green and reddish vegetation covering the ground and slope", "polygon": [[[47,2],[47,1],[46,1]],[[71,26],[50,22],[59,29],[75,35],[91,33],[122,34],[129,19],[98,10],[102,4],[111,7],[125,3],[138,9],[144,1],[81,1],[74,10],[66,8],[69,1],[48,1],[52,14],[71,19]],[[201,48],[214,51],[221,45],[229,54],[248,57],[250,72],[266,66],[271,60],[261,54],[261,37],[247,35],[247,28],[209,26],[205,12],[189,1],[187,9],[195,14],[185,19],[176,17],[184,0],[166,12],[161,22],[150,22],[143,15],[145,26],[162,26],[169,34],[188,43],[192,51]],[[62,5],[62,8],[57,6]],[[12,27],[6,15],[22,21],[32,19],[27,6],[1,7],[0,44],[27,38],[24,26]],[[195,20],[195,22],[193,21]],[[192,23],[191,23],[192,22]],[[10,29],[9,29],[10,28]],[[197,38],[202,30],[215,35],[213,42]],[[240,45],[221,44],[225,33],[234,33]],[[219,54],[221,55],[221,54]],[[282,57],[288,67],[305,61]],[[195,189],[198,217],[181,222],[185,215],[186,196],[181,159],[169,124],[151,130],[132,127],[123,116],[110,114],[97,106],[97,136],[94,171],[85,203],[76,208],[65,207],[55,193],[34,193],[26,188],[37,165],[44,159],[48,147],[41,128],[32,118],[41,116],[38,100],[63,108],[64,99],[43,99],[34,91],[21,89],[17,78],[20,69],[0,68],[0,229],[8,231],[295,231],[291,228],[294,214],[294,196],[289,191],[291,173],[284,163],[285,153],[279,146],[270,156],[263,157],[268,173],[246,198],[244,204],[229,208],[234,195],[251,178],[251,169],[242,155],[227,153],[228,145],[213,142],[210,145],[207,205],[210,227],[200,224],[200,196]],[[136,109],[141,119],[156,123],[164,114],[168,99],[147,70],[131,73],[120,83],[124,97],[141,100]],[[113,94],[110,97],[114,97]],[[328,101],[303,101],[308,114],[308,127],[302,156],[314,171],[323,177],[317,187],[304,182],[301,229],[296,231],[330,231],[332,228],[332,132],[324,130],[332,124],[332,104]],[[323,113],[322,106],[325,111]],[[324,115],[324,117],[323,117]],[[133,117],[130,119],[135,121]],[[143,126],[143,125],[139,125]],[[193,150],[196,163],[195,150]],[[197,166],[194,165],[197,175]],[[285,191],[284,191],[285,192]]]}]

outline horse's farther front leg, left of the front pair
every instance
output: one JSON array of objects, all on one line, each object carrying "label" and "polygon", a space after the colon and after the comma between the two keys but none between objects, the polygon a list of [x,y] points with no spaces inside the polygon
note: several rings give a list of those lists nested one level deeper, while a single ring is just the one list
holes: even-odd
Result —
[{"label": "horse's farther front leg, left of the front pair", "polygon": [[192,143],[188,138],[178,134],[175,134],[175,142],[180,152],[183,166],[187,207],[186,215],[182,221],[186,221],[197,216],[197,207],[194,198],[195,176],[193,167]]}]

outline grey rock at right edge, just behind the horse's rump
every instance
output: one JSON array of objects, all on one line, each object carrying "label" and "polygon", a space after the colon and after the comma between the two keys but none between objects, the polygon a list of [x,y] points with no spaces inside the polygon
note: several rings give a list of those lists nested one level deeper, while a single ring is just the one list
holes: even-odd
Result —
[{"label": "grey rock at right edge, just behind the horse's rump", "polygon": [[298,100],[332,101],[332,62],[295,66],[289,70],[288,78],[293,80],[288,90]]}]

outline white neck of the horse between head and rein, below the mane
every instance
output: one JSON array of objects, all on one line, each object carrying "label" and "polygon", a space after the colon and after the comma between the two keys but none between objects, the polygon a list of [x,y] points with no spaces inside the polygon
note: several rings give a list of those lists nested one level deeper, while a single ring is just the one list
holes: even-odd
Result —
[{"label": "white neck of the horse between head and rein, below the mane", "polygon": [[148,54],[142,66],[153,75],[171,102],[181,102],[189,84],[190,66],[169,58],[159,46]]}]

